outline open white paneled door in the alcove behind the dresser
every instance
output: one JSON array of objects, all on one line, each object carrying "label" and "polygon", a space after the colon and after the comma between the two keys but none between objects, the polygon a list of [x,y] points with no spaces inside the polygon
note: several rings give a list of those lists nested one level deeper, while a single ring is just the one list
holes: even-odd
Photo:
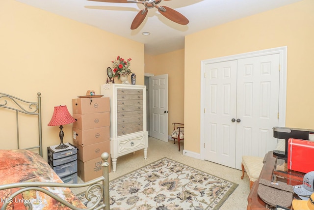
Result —
[{"label": "open white paneled door in the alcove behind the dresser", "polygon": [[150,136],[168,142],[168,74],[150,77]]}]

